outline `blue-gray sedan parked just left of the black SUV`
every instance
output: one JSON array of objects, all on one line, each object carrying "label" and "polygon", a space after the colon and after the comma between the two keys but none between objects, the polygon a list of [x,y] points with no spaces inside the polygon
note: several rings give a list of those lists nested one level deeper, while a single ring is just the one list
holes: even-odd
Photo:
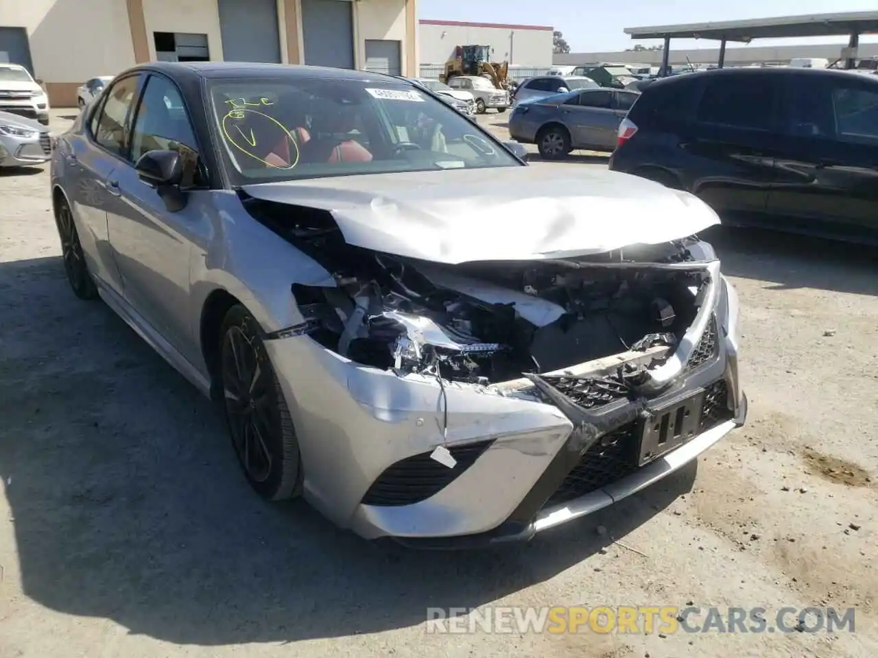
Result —
[{"label": "blue-gray sedan parked just left of the black SUV", "polygon": [[572,150],[612,151],[619,124],[639,94],[615,89],[581,89],[524,101],[509,118],[509,134],[525,144],[536,144],[546,160],[557,160]]}]

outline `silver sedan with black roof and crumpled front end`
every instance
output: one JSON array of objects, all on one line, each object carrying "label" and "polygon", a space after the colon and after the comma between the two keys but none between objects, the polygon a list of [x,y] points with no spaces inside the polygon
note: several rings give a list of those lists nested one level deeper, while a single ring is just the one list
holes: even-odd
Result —
[{"label": "silver sedan with black roof and crumpled front end", "polygon": [[745,420],[697,198],[389,76],[140,65],[61,136],[69,283],[206,396],[263,497],[416,547],[529,539]]}]

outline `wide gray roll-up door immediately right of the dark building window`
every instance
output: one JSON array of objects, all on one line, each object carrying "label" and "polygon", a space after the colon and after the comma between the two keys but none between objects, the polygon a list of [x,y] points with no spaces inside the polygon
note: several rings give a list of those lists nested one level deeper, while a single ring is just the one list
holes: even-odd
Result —
[{"label": "wide gray roll-up door immediately right of the dark building window", "polygon": [[219,0],[225,61],[279,62],[277,0]]}]

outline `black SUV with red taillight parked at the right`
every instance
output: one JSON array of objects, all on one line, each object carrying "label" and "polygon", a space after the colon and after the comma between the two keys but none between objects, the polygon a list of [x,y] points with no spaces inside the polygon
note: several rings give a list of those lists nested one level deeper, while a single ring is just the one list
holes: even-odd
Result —
[{"label": "black SUV with red taillight parked at the right", "polygon": [[878,241],[878,77],[717,69],[652,82],[609,168],[688,190],[724,223]]}]

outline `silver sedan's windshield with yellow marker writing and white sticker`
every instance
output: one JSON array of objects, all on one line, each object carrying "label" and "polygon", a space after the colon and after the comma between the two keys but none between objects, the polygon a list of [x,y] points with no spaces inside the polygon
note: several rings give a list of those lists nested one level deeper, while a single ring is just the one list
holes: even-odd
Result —
[{"label": "silver sedan's windshield with yellow marker writing and white sticker", "polygon": [[218,81],[208,94],[235,186],[521,164],[470,120],[412,84]]}]

